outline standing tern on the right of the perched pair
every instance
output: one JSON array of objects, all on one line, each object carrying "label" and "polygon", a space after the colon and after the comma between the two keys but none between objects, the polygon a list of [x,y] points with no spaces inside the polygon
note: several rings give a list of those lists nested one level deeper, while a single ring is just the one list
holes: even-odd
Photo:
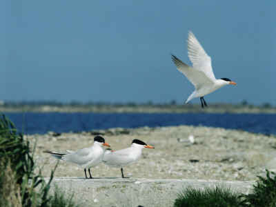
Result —
[{"label": "standing tern on the right of the perched pair", "polygon": [[152,148],[153,146],[147,145],[144,141],[134,139],[130,148],[123,150],[117,150],[109,154],[105,154],[103,163],[111,168],[121,168],[121,177],[129,178],[124,176],[123,168],[135,164],[135,162],[141,156],[141,150],[144,148]]}]

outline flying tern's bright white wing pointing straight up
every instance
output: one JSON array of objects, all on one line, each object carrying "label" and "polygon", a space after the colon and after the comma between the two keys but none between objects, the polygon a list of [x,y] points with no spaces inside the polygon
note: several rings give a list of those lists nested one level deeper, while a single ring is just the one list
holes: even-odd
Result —
[{"label": "flying tern's bright white wing pointing straight up", "polygon": [[193,63],[193,68],[204,72],[209,79],[214,81],[215,75],[212,69],[211,57],[207,55],[193,32],[188,32],[187,42],[188,57]]}]

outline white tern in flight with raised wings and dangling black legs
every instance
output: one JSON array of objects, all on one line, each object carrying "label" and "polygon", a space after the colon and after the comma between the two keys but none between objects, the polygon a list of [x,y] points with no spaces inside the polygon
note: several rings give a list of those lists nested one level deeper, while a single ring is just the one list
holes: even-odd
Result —
[{"label": "white tern in flight with raised wings and dangling black legs", "polygon": [[186,103],[195,97],[200,97],[201,107],[207,106],[204,95],[208,95],[228,84],[237,85],[228,78],[216,79],[213,73],[211,58],[192,32],[188,32],[188,57],[193,63],[193,68],[172,55],[177,69],[183,72],[195,86],[195,91],[188,97]]}]

